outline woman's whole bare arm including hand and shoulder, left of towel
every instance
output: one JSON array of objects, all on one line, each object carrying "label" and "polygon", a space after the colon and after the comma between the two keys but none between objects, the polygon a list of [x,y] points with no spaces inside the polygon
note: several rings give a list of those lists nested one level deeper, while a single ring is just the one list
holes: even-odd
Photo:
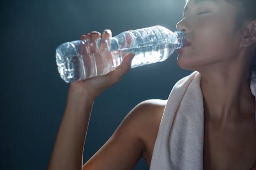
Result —
[{"label": "woman's whole bare arm including hand and shoulder, left of towel", "polygon": [[[79,52],[97,51],[95,40],[100,33],[91,32],[81,40],[88,41]],[[105,31],[102,40],[110,38],[111,31]],[[129,45],[129,44],[128,44]],[[108,44],[102,41],[99,51]],[[106,56],[111,57],[111,56]],[[118,82],[130,69],[133,55],[124,57],[121,65],[107,75],[86,79],[70,84],[67,104],[56,137],[48,170],[132,170],[141,157],[150,164],[153,146],[166,104],[163,100],[141,102],[124,118],[110,139],[84,165],[83,147],[90,114],[95,98],[106,88]]]}]

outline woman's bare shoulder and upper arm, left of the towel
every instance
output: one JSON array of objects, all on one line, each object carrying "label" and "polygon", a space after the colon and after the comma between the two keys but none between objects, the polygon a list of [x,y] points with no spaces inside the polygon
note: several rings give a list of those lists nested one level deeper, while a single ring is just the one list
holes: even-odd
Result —
[{"label": "woman's bare shoulder and upper arm, left of the towel", "polygon": [[83,170],[132,170],[143,157],[150,166],[166,100],[137,104],[108,141],[83,165]]}]

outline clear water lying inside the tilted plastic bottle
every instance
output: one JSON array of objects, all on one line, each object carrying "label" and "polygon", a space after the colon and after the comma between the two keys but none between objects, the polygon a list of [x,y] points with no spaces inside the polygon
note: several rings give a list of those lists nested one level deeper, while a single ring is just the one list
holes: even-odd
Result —
[{"label": "clear water lying inside the tilted plastic bottle", "polygon": [[131,68],[145,64],[153,64],[166,60],[175,50],[176,44],[166,46],[146,46],[143,48],[127,48],[116,51],[99,51],[79,56],[64,57],[58,62],[58,70],[65,82],[73,82],[85,78],[105,75],[115,70],[128,53],[135,53]]}]

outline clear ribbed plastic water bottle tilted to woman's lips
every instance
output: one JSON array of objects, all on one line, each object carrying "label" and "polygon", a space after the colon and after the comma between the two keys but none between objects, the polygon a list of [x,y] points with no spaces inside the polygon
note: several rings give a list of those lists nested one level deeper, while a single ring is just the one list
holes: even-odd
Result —
[{"label": "clear ribbed plastic water bottle tilted to woman's lips", "polygon": [[[61,78],[65,82],[74,82],[109,73],[121,64],[128,53],[135,53],[131,68],[162,62],[185,42],[183,32],[152,26],[125,31],[104,40],[107,48],[101,50],[101,38],[97,42],[77,40],[63,43],[56,49],[56,63]],[[98,51],[85,53],[88,45],[97,45]]]}]

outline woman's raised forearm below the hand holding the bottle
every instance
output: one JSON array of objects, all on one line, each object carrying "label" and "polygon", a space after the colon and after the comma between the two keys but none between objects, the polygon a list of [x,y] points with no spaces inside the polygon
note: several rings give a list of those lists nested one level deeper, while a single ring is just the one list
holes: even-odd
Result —
[{"label": "woman's raised forearm below the hand holding the bottle", "polygon": [[70,88],[48,170],[81,170],[93,100]]}]

